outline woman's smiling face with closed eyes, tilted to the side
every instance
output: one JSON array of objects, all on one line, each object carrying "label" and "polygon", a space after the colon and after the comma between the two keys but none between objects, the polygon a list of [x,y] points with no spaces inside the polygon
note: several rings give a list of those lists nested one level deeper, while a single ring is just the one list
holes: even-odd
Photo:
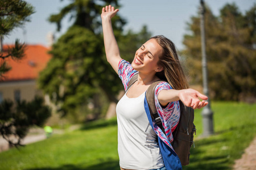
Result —
[{"label": "woman's smiling face with closed eyes, tilted to the side", "polygon": [[158,71],[159,56],[162,53],[162,47],[155,39],[150,39],[139,48],[134,56],[131,66],[134,70],[144,74],[150,74]]}]

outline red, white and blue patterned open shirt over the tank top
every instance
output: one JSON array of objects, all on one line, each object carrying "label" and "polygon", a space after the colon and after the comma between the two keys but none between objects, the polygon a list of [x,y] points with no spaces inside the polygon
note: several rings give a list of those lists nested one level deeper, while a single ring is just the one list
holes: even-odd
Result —
[{"label": "red, white and blue patterned open shirt over the tank top", "polygon": [[[118,65],[118,75],[121,78],[123,86],[125,87],[125,91],[127,90],[127,86],[129,84],[130,79],[137,74],[138,71],[134,70],[131,67],[131,64],[124,59],[119,62]],[[160,82],[155,88],[155,106],[158,114],[163,122],[164,130],[166,131],[166,135],[163,131],[155,124],[153,121],[154,131],[164,141],[168,146],[171,146],[171,142],[173,141],[172,131],[175,130],[177,124],[179,123],[180,118],[180,105],[179,101],[174,101],[169,103],[165,108],[163,108],[158,101],[158,94],[161,90],[170,90],[172,87],[167,82]],[[173,148],[172,148],[173,150]]]}]

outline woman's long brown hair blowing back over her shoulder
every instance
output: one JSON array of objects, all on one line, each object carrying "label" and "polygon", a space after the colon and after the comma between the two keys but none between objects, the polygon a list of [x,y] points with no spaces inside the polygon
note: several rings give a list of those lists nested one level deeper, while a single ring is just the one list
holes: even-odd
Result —
[{"label": "woman's long brown hair blowing back over her shoulder", "polygon": [[174,43],[162,35],[154,36],[150,39],[155,39],[163,48],[158,62],[158,65],[162,66],[163,70],[156,73],[156,76],[166,80],[176,90],[189,88]]}]

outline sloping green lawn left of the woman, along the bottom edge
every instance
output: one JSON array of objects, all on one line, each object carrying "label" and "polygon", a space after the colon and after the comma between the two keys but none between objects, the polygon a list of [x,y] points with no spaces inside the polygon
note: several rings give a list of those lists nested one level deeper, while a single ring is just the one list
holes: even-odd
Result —
[{"label": "sloping green lawn left of the woman, along the bottom edge", "polygon": [[119,169],[116,120],[82,129],[2,152],[0,169]]}]

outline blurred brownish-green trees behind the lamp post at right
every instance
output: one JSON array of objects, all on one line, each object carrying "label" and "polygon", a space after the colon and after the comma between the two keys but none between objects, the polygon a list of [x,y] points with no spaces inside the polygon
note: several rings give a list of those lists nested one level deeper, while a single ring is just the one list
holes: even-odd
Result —
[{"label": "blurred brownish-green trees behind the lamp post at right", "polygon": [[[207,41],[210,94],[218,100],[255,101],[256,85],[256,5],[243,15],[233,4],[226,4],[220,16],[207,8]],[[183,44],[187,63],[195,75],[191,83],[201,83],[200,16],[192,16]]]}]

